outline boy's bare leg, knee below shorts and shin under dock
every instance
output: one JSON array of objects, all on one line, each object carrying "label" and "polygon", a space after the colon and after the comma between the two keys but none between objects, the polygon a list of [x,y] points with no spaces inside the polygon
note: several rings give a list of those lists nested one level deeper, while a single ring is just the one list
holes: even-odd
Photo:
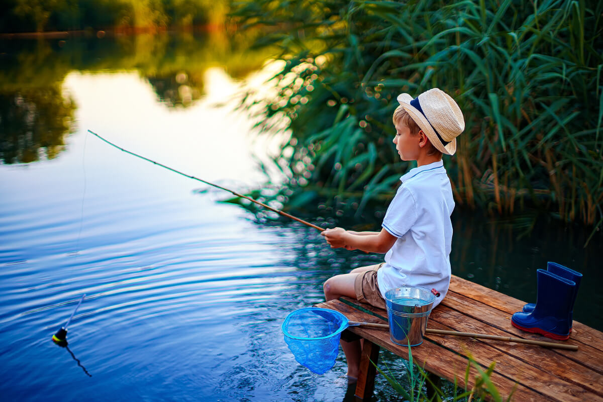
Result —
[{"label": "boy's bare leg, knee below shorts and shin under dock", "polygon": [[[323,285],[324,298],[327,301],[338,299],[341,296],[356,298],[354,283],[358,275],[362,274],[351,272],[350,274],[335,275],[334,277],[327,279]],[[358,378],[360,354],[362,349],[360,341],[341,341],[341,348],[346,354],[347,375],[354,379]]]}]

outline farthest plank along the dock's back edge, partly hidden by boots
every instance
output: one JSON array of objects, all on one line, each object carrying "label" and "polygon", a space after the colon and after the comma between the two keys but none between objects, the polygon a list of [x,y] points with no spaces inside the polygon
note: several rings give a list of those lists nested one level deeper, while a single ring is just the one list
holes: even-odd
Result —
[{"label": "farthest plank along the dock's back edge, partly hidden by boots", "polygon": [[[510,315],[522,311],[523,306],[526,304],[525,301],[504,295],[493,289],[488,289],[488,287],[481,284],[473,283],[455,275],[452,275],[450,279],[450,291],[465,295],[473,300],[481,301]],[[595,330],[595,328],[591,328],[581,322],[573,322],[572,338],[603,351],[603,332]]]}]

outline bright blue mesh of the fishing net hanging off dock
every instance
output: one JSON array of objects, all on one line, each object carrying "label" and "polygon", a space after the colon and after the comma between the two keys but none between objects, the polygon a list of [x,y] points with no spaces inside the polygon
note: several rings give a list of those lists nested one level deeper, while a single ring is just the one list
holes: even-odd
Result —
[{"label": "bright blue mesh of the fishing net hanging off dock", "polygon": [[281,329],[295,360],[316,374],[335,365],[341,331],[348,319],[335,310],[306,307],[286,316]]}]

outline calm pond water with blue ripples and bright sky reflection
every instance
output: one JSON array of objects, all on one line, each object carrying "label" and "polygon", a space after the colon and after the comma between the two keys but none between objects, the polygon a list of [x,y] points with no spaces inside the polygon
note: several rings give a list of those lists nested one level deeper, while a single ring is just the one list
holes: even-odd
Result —
[{"label": "calm pond water with blue ripples and bright sky reflection", "polygon": [[[236,190],[253,187],[265,180],[259,162],[270,166],[280,137],[258,139],[233,98],[241,87],[261,88],[269,71],[233,80],[208,62],[191,100],[182,88],[158,95],[142,69],[85,69],[76,59],[52,83],[72,99],[64,149],[0,165],[4,400],[349,400],[343,353],[332,371],[312,374],[289,353],[280,324],[323,301],[326,278],[380,256],[333,251],[295,223],[258,224],[218,202],[227,194],[86,133]],[[188,107],[172,107],[178,99]],[[534,300],[535,269],[564,263],[587,278],[575,319],[603,330],[600,236],[584,249],[578,229],[537,225],[518,239],[505,222],[460,211],[453,218],[453,273]],[[82,294],[69,349],[57,347],[51,336]],[[398,359],[382,358],[401,372]],[[382,378],[376,388],[379,400],[395,399]]]}]

